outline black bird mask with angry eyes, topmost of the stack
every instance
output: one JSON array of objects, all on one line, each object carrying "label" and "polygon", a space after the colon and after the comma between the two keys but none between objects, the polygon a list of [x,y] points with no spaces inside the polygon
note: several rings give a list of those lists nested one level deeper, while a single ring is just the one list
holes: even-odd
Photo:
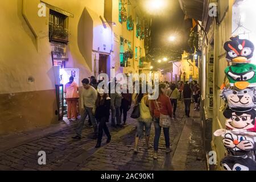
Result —
[{"label": "black bird mask with angry eyes, topmost of the stack", "polygon": [[224,44],[226,60],[233,63],[250,63],[253,57],[254,45],[250,40],[239,39],[239,36],[230,38]]}]

